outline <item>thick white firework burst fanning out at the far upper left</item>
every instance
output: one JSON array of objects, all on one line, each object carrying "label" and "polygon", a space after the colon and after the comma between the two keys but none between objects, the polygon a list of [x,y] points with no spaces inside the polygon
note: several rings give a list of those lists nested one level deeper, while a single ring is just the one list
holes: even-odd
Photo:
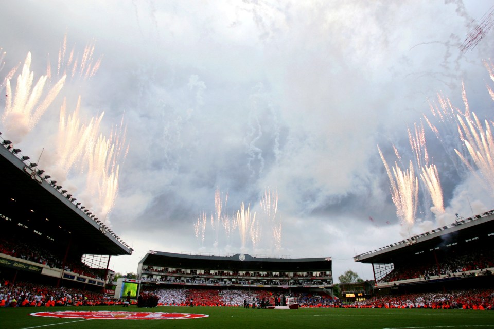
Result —
[{"label": "thick white firework burst fanning out at the far upper left", "polygon": [[7,97],[2,123],[14,142],[19,142],[22,136],[29,133],[38,123],[48,106],[57,97],[65,82],[65,76],[63,76],[49,90],[44,100],[40,102],[47,77],[41,76],[34,87],[32,87],[33,79],[34,72],[31,72],[31,53],[29,52],[22,72],[17,78],[14,94],[12,94],[10,79],[6,81]]}]

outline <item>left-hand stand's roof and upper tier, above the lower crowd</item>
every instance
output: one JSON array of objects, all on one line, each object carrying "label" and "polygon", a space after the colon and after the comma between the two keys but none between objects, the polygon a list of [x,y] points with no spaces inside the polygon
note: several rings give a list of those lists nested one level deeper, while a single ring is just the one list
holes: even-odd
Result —
[{"label": "left-hand stand's roof and upper tier, above the lower crowd", "polygon": [[104,290],[132,248],[37,163],[0,138],[0,278]]}]

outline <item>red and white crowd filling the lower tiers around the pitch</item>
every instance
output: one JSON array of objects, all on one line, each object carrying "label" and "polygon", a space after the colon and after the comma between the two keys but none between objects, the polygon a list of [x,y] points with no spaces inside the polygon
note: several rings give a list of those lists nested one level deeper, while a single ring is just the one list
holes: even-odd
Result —
[{"label": "red and white crowd filling the lower tiers around the pitch", "polygon": [[[386,295],[363,301],[342,303],[326,294],[298,293],[301,307],[343,308],[431,308],[431,309],[494,309],[494,289],[453,290],[442,293]],[[256,308],[260,301],[275,305],[283,294],[269,290],[243,289],[178,289],[155,288],[142,291],[137,299],[138,307],[158,305],[175,306],[234,306],[249,303]],[[102,293],[83,291],[78,288],[54,287],[30,282],[0,285],[0,307],[53,307],[53,306],[98,306],[123,305],[123,300],[104,296]]]}]

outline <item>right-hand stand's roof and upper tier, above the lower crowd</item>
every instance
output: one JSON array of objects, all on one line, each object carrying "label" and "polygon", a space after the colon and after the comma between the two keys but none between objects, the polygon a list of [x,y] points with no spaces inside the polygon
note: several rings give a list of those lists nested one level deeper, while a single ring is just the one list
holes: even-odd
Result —
[{"label": "right-hand stand's roof and upper tier, above the lower crowd", "polygon": [[354,257],[372,264],[376,294],[494,287],[494,210]]}]

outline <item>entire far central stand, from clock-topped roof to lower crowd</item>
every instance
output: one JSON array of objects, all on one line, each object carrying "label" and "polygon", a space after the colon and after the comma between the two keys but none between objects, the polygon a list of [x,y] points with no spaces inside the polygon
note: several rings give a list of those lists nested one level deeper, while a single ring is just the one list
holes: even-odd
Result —
[{"label": "entire far central stand, from clock-topped roof to lower crowd", "polygon": [[[282,296],[320,292],[332,298],[331,258],[290,259],[249,254],[203,255],[149,251],[137,275],[160,304],[261,307]],[[156,288],[158,287],[158,288]],[[257,302],[256,302],[257,301]],[[281,304],[281,303],[280,303]]]}]

